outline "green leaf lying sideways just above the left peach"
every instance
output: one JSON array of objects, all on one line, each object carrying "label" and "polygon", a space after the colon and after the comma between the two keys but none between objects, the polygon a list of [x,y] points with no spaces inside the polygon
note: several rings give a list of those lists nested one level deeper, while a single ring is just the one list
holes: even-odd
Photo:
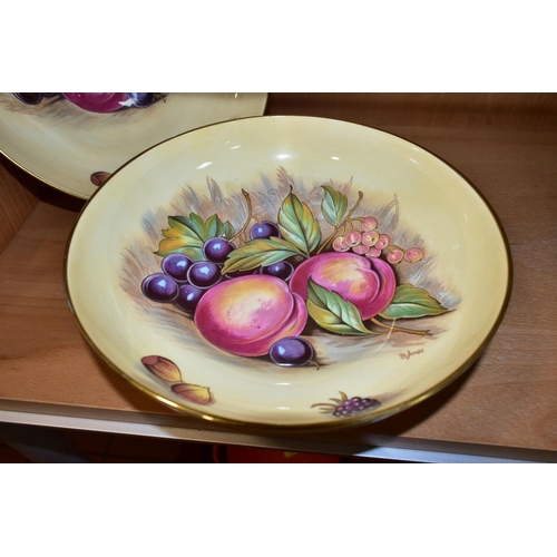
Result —
[{"label": "green leaf lying sideways just above the left peach", "polygon": [[272,265],[280,261],[304,255],[297,247],[281,238],[252,240],[234,250],[223,265],[222,274],[234,271],[250,271],[261,265]]}]

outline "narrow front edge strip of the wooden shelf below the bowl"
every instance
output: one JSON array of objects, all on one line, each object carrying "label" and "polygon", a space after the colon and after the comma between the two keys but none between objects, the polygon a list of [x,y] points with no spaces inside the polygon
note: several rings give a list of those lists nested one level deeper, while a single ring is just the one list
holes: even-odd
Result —
[{"label": "narrow front edge strip of the wooden shelf below the bowl", "polygon": [[557,462],[557,451],[494,447],[390,436],[341,433],[313,439],[225,431],[182,417],[129,414],[129,412],[76,409],[46,404],[0,403],[0,422],[56,429],[96,431],[159,439],[256,447],[284,451],[330,453],[341,457],[430,463],[535,463]]}]

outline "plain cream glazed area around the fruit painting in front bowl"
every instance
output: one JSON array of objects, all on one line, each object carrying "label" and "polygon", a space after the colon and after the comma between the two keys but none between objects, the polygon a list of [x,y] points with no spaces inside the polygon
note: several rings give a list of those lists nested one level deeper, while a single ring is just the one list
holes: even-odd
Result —
[{"label": "plain cream glazed area around the fruit painting in front bowl", "polygon": [[[285,192],[280,176],[289,177],[302,201],[314,197],[314,206],[322,185],[344,186],[349,207],[362,192],[362,206],[379,215],[378,228],[389,219],[392,238],[423,247],[422,262],[395,268],[451,310],[404,321],[408,328],[431,329],[431,336],[359,338],[349,349],[334,335],[312,336],[320,369],[281,368],[264,358],[223,352],[201,338],[187,316],[168,322],[168,305],[140,300],[144,275],[159,271],[160,257],[153,252],[160,231],[168,228],[168,215],[186,214],[184,199],[192,212],[211,206],[218,214],[242,189],[253,199],[264,193],[264,203],[276,203],[260,217],[272,218]],[[242,211],[232,212],[236,228]],[[430,153],[349,123],[260,117],[182,135],[114,175],[89,202],[70,240],[67,289],[90,343],[149,394],[207,419],[314,427],[339,423],[315,404],[331,403],[340,393],[380,400],[377,409],[346,419],[369,421],[418,402],[466,369],[504,311],[509,265],[490,208]],[[211,389],[213,403],[201,405],[174,393],[141,364],[146,355],[173,361],[184,382]]]}]

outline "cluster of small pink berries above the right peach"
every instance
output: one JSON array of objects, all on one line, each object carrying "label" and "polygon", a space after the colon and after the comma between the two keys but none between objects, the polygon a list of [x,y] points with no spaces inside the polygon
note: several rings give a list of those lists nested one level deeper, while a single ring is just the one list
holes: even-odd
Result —
[{"label": "cluster of small pink berries above the right peach", "polygon": [[362,231],[352,229],[345,236],[335,237],[333,241],[335,252],[352,251],[358,255],[373,258],[379,257],[384,251],[387,261],[392,264],[400,263],[402,260],[416,263],[423,257],[423,252],[418,247],[404,250],[391,244],[391,238],[387,234],[380,234],[377,231],[377,218],[368,216],[356,221],[361,221]]}]

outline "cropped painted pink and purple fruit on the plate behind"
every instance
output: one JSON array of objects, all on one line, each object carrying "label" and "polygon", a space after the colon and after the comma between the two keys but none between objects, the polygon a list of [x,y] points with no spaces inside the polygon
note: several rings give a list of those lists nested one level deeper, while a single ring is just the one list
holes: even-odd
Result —
[{"label": "cropped painted pink and purple fruit on the plate behind", "polygon": [[147,108],[156,102],[156,92],[14,92],[26,105],[38,105],[46,97],[61,95],[74,105],[89,113],[114,113],[124,107]]}]

